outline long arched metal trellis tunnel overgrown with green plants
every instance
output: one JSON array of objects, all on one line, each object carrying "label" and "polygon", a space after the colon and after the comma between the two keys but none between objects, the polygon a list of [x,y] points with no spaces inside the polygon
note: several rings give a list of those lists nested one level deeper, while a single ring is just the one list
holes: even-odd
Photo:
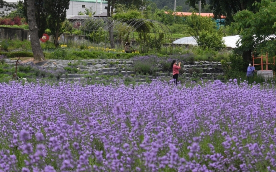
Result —
[{"label": "long arched metal trellis tunnel overgrown with green plants", "polygon": [[125,21],[124,18],[86,16],[71,20],[65,29],[67,34],[63,43],[67,47],[72,44],[123,49],[128,41],[137,50],[144,51],[143,47],[146,47],[146,51],[160,51],[161,44],[172,42],[171,31],[166,25],[144,18]]}]

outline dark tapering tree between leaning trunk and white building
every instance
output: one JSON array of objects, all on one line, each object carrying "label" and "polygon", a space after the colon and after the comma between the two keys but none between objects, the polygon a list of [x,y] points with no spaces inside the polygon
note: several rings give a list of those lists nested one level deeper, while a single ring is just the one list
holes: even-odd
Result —
[{"label": "dark tapering tree between leaning trunk and white building", "polygon": [[47,25],[50,29],[54,45],[57,48],[58,37],[65,31],[62,22],[66,19],[66,10],[69,9],[70,0],[46,0],[45,9],[48,13]]}]

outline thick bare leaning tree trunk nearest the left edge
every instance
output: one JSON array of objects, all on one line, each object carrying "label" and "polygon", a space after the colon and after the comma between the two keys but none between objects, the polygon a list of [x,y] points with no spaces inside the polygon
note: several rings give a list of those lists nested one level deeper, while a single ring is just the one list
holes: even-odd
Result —
[{"label": "thick bare leaning tree trunk nearest the left edge", "polygon": [[35,0],[27,1],[28,25],[30,34],[30,43],[34,60],[45,61],[45,57],[39,42],[38,27],[35,20]]}]

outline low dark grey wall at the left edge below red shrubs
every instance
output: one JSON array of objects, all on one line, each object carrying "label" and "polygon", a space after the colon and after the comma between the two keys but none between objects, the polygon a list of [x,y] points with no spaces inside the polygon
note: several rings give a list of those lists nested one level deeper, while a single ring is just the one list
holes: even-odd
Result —
[{"label": "low dark grey wall at the left edge below red shrubs", "polygon": [[9,28],[0,27],[0,39],[19,39],[19,40],[29,40],[28,39],[29,30],[24,30],[22,28]]}]

